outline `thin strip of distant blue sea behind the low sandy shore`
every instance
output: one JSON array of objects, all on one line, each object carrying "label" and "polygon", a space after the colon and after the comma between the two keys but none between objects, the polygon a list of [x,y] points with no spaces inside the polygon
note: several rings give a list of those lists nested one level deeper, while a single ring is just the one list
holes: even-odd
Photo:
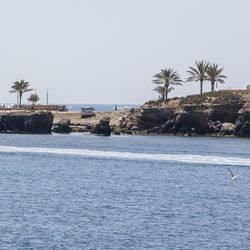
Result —
[{"label": "thin strip of distant blue sea behind the low sandy shore", "polygon": [[81,111],[81,108],[94,107],[96,112],[114,111],[115,105],[119,110],[125,108],[138,108],[141,104],[66,104],[70,111]]}]

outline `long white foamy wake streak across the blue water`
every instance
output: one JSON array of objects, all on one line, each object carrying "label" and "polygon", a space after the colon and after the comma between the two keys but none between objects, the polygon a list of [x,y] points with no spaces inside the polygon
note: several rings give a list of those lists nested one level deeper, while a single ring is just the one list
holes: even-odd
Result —
[{"label": "long white foamy wake streak across the blue water", "polygon": [[250,166],[250,158],[224,157],[217,155],[191,155],[191,154],[147,154],[115,151],[97,151],[88,149],[66,149],[66,148],[36,148],[36,147],[15,147],[0,146],[0,152],[11,153],[40,153],[40,154],[60,154],[79,155],[93,158],[115,158],[131,160],[152,160],[183,162],[196,164],[214,165],[240,165]]}]

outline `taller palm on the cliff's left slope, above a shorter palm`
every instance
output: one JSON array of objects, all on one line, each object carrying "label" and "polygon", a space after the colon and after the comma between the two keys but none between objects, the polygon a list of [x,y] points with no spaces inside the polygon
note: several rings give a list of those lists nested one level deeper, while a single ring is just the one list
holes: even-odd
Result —
[{"label": "taller palm on the cliff's left slope, above a shorter palm", "polygon": [[154,75],[153,83],[155,84],[163,84],[162,87],[165,89],[165,98],[167,100],[168,93],[173,90],[171,85],[182,85],[182,80],[180,79],[180,75],[174,71],[173,69],[162,69],[160,73]]}]

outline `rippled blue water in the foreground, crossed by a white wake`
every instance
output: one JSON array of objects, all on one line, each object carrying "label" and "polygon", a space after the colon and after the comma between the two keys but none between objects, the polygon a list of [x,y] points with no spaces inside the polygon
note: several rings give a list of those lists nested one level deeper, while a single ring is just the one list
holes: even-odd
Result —
[{"label": "rippled blue water in the foreground, crossed by a white wake", "polygon": [[250,249],[248,139],[0,134],[0,162],[0,249]]}]

